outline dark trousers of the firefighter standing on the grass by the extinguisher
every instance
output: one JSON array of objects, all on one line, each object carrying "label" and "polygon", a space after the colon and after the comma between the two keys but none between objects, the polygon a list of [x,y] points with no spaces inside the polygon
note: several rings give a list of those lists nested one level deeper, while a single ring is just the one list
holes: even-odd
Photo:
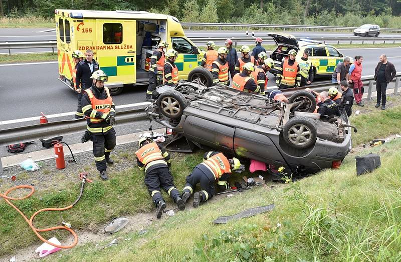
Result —
[{"label": "dark trousers of the firefighter standing on the grass by the extinguisher", "polygon": [[93,155],[96,168],[99,171],[107,169],[106,159],[110,158],[110,152],[116,146],[116,131],[111,128],[107,133],[92,133]]}]

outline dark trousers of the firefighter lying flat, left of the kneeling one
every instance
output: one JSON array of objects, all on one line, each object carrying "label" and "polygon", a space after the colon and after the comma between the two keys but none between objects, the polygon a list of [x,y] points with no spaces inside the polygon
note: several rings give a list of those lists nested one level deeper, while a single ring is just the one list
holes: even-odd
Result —
[{"label": "dark trousers of the firefighter lying flat, left of the kneeling one", "polygon": [[160,200],[164,200],[163,196],[161,196],[160,187],[163,188],[173,200],[177,196],[181,197],[178,189],[174,185],[174,178],[167,166],[161,166],[147,171],[145,184],[156,206]]}]

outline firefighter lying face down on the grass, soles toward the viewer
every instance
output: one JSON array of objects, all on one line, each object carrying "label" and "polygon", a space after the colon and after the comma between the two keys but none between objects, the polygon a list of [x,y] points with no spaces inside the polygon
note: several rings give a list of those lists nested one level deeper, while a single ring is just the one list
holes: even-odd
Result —
[{"label": "firefighter lying face down on the grass, soles toward the viewer", "polygon": [[149,137],[139,139],[139,149],[135,152],[138,167],[145,170],[145,184],[149,194],[157,208],[156,217],[161,218],[161,214],[166,207],[166,203],[161,196],[160,187],[166,191],[179,210],[185,209],[185,203],[181,195],[175,188],[173,177],[169,170],[171,164],[170,155],[164,148]]}]

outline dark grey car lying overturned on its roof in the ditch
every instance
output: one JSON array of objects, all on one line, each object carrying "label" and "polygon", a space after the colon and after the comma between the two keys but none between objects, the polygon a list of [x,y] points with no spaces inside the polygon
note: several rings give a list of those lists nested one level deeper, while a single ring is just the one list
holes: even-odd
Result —
[{"label": "dark grey car lying overturned on its roof in the ditch", "polygon": [[160,85],[153,94],[157,100],[146,111],[175,132],[169,150],[213,148],[313,173],[338,167],[351,148],[347,115],[326,118],[313,113],[315,97],[304,90],[292,94],[288,104],[200,82]]}]

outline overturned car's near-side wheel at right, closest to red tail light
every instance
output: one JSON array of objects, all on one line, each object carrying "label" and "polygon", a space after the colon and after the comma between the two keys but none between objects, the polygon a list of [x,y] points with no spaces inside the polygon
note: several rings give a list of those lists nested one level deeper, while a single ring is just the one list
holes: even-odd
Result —
[{"label": "overturned car's near-side wheel at right, closest to red tail light", "polygon": [[288,120],[283,128],[283,137],[288,145],[302,149],[315,144],[316,126],[312,119],[297,116]]}]

